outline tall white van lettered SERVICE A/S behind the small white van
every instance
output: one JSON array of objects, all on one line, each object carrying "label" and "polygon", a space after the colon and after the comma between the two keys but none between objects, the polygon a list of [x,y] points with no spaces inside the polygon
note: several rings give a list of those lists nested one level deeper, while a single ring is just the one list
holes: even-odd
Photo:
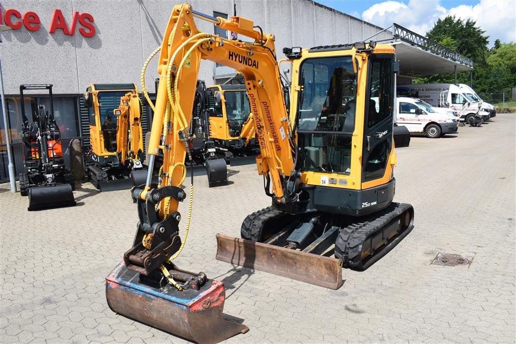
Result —
[{"label": "tall white van lettered SERVICE A/S behind the small white van", "polygon": [[411,93],[432,106],[451,108],[469,124],[477,121],[477,113],[483,120],[489,119],[489,112],[483,111],[481,102],[475,101],[454,84],[398,85],[397,91],[400,96]]}]

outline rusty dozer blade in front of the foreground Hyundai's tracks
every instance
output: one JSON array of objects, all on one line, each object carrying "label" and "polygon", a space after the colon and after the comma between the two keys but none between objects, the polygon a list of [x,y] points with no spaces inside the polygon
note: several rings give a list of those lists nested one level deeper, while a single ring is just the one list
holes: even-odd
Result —
[{"label": "rusty dozer blade in front of the foreground Hyundai's tracks", "polygon": [[330,289],[342,286],[342,260],[217,234],[217,260]]}]

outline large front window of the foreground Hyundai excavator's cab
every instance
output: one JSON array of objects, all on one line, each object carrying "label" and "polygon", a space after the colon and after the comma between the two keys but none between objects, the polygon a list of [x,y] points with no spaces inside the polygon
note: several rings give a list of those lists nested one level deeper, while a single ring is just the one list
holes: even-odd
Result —
[{"label": "large front window of the foreground Hyundai excavator's cab", "polygon": [[298,146],[303,170],[349,174],[357,75],[351,56],[302,62],[298,103]]}]

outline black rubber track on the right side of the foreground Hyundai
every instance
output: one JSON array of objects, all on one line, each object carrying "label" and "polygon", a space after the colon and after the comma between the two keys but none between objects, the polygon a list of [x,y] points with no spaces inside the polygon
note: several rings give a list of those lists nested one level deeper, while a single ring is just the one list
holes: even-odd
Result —
[{"label": "black rubber track on the right side of the foreground Hyundai", "polygon": [[350,224],[341,229],[335,241],[335,257],[341,258],[343,267],[351,270],[364,271],[385,256],[412,230],[410,225],[403,232],[383,246],[383,248],[369,258],[365,264],[362,263],[362,243],[374,232],[388,225],[394,218],[412,209],[411,205],[393,203],[389,207],[361,218],[360,222]]}]

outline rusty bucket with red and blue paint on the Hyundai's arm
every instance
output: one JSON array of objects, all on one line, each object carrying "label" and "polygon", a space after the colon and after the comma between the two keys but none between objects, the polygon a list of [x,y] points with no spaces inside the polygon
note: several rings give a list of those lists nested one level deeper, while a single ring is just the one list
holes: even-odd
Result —
[{"label": "rusty bucket with red and blue paint on the Hyundai's arm", "polygon": [[208,280],[199,291],[142,284],[139,274],[121,262],[106,277],[106,299],[112,311],[198,343],[217,343],[248,327],[222,317],[225,289]]}]

